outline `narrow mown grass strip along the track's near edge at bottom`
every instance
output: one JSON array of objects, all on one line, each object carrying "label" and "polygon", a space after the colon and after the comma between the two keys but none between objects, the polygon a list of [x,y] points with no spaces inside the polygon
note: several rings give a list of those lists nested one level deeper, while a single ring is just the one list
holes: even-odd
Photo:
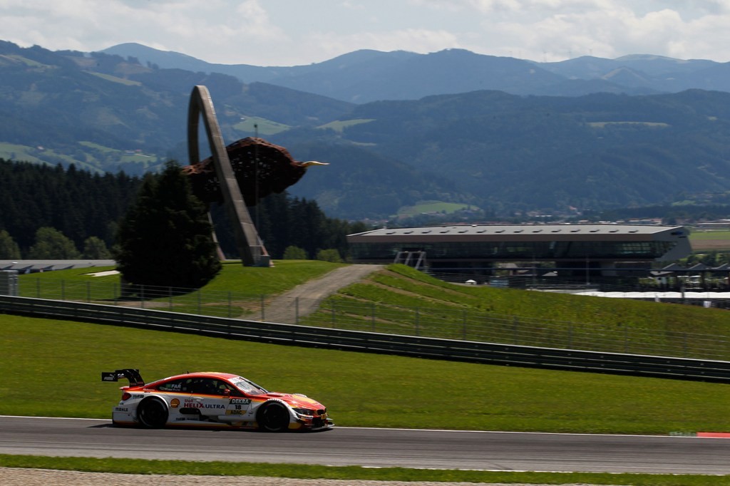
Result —
[{"label": "narrow mown grass strip along the track's near edge at bottom", "polygon": [[[253,476],[296,479],[349,479],[374,481],[432,481],[523,483],[541,485],[706,486],[730,485],[729,476],[710,474],[602,474],[458,469],[364,468],[305,464],[228,463],[185,460],[116,458],[54,458],[37,455],[0,455],[0,466],[117,474],[172,474],[196,476]],[[211,480],[214,480],[211,478]]]}]

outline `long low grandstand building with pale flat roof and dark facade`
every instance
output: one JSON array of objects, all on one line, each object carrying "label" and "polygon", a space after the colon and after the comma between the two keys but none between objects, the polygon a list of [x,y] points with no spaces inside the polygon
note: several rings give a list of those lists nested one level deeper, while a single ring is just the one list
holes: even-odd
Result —
[{"label": "long low grandstand building with pale flat roof and dark facade", "polygon": [[692,252],[683,226],[622,224],[444,225],[383,228],[347,236],[356,263],[406,263],[433,272],[513,269],[560,277],[647,274],[656,261]]}]

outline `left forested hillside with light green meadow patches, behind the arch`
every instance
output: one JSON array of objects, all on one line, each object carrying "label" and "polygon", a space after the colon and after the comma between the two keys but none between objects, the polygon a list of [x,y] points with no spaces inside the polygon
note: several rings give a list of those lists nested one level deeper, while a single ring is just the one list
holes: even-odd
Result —
[{"label": "left forested hillside with light green meadow patches, behind the arch", "polygon": [[[0,144],[1,155],[136,175],[150,169],[149,161],[120,166],[126,152],[154,158],[157,166],[185,154],[188,99],[195,85],[213,93],[229,142],[253,131],[253,124],[245,123],[249,117],[266,117],[258,120],[265,135],[273,130],[266,120],[283,128],[327,123],[350,107],[287,88],[243,85],[225,74],[153,69],[113,55],[53,53],[1,41],[0,73],[0,142],[21,146]],[[9,157],[12,150],[18,156]]]}]

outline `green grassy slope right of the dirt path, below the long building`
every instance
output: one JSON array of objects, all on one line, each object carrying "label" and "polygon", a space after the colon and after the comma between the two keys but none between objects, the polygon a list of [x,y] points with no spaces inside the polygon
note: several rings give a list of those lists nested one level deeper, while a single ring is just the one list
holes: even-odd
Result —
[{"label": "green grassy slope right of the dirt path, below the long building", "polygon": [[300,323],[334,314],[337,327],[364,331],[730,360],[723,309],[453,285],[402,265],[339,290]]}]

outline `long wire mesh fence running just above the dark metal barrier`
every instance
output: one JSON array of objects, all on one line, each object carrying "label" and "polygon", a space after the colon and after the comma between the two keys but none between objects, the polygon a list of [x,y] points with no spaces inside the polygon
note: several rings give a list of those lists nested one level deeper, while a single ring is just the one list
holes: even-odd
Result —
[{"label": "long wire mesh fence running just above the dark metal barrier", "polygon": [[632,327],[607,328],[576,323],[498,315],[472,309],[375,304],[342,296],[314,301],[211,290],[135,286],[104,282],[23,280],[23,297],[81,301],[140,309],[158,309],[212,317],[311,325],[374,333],[393,333],[566,350],[586,350],[730,360],[730,335],[710,335]]}]

